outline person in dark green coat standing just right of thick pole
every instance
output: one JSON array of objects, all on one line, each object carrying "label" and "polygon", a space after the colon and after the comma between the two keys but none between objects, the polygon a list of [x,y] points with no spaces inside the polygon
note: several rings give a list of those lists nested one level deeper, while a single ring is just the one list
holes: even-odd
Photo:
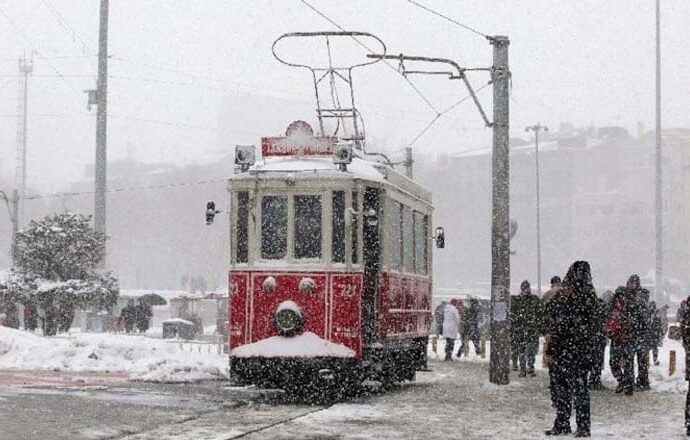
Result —
[{"label": "person in dark green coat standing just right of thick pole", "polygon": [[520,362],[520,377],[536,375],[534,362],[539,351],[543,315],[541,301],[532,293],[529,281],[523,281],[520,294],[510,306],[510,325]]}]

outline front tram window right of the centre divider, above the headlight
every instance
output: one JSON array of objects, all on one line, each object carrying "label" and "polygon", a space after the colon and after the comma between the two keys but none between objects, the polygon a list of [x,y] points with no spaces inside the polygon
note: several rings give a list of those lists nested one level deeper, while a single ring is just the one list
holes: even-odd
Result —
[{"label": "front tram window right of the centre divider, above the headlight", "polygon": [[321,196],[295,196],[295,258],[321,258]]}]

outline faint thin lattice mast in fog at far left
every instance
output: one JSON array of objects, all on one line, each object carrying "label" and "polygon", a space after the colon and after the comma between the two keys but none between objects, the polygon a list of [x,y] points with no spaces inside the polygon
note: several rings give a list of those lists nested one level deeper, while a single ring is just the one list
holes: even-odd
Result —
[{"label": "faint thin lattice mast in fog at far left", "polygon": [[19,222],[24,216],[24,204],[22,200],[26,196],[26,150],[27,150],[27,125],[29,120],[29,75],[34,70],[32,58],[25,55],[19,57],[19,117],[17,119],[17,146],[16,168],[14,175],[14,190],[12,191],[12,260],[14,263],[14,250],[17,244],[17,232]]}]

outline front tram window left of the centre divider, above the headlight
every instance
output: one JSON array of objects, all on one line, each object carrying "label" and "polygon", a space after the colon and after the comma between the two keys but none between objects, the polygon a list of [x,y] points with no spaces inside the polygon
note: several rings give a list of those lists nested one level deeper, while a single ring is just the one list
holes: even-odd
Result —
[{"label": "front tram window left of the centre divider, above the headlight", "polygon": [[280,260],[287,254],[287,197],[261,199],[261,258]]}]

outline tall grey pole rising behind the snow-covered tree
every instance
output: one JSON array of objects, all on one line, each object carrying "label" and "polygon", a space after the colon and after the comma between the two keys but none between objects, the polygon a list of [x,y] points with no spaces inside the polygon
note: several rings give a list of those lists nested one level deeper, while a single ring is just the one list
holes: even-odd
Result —
[{"label": "tall grey pole rising behind the snow-covered tree", "polygon": [[[94,166],[94,229],[106,233],[105,191],[107,171],[108,106],[108,1],[101,0],[98,32],[98,79],[96,82],[96,162]],[[105,266],[105,255],[101,263]]]}]

